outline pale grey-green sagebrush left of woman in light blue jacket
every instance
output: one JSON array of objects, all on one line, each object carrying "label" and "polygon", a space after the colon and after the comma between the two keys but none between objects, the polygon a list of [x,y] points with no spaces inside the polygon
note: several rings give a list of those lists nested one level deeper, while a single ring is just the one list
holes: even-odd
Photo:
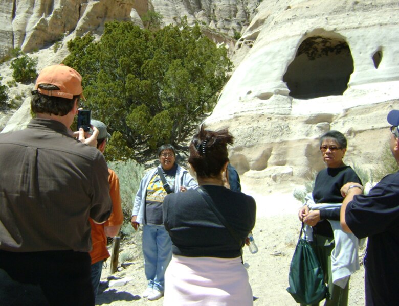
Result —
[{"label": "pale grey-green sagebrush left of woman in light blue jacket", "polygon": [[139,190],[140,181],[144,175],[144,166],[134,160],[108,162],[108,167],[119,177],[119,186],[122,200],[123,225],[121,237],[131,237],[134,229],[130,224],[133,201]]}]

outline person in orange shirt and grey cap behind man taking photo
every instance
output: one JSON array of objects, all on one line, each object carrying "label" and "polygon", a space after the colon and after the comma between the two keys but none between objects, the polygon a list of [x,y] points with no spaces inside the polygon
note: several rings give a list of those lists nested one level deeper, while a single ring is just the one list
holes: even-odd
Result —
[{"label": "person in orange shirt and grey cap behind man taking photo", "polygon": [[[104,123],[98,120],[92,120],[91,125],[99,130],[97,137],[97,149],[104,153],[107,138],[110,135]],[[108,220],[103,224],[97,224],[90,219],[92,226],[92,245],[90,252],[92,258],[92,284],[94,288],[94,296],[97,297],[98,287],[100,285],[101,271],[104,260],[110,255],[107,250],[107,237],[117,236],[119,229],[123,223],[121,196],[119,193],[119,179],[116,173],[108,168],[109,177],[109,195],[112,200],[112,213]]]}]

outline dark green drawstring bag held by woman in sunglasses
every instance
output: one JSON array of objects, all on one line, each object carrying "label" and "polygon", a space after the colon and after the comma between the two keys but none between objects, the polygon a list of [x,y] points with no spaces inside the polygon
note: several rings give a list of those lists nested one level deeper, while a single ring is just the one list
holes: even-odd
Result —
[{"label": "dark green drawstring bag held by woman in sunglasses", "polygon": [[303,222],[291,260],[290,274],[288,276],[290,287],[287,288],[287,291],[297,303],[308,305],[320,302],[329,294],[324,283],[323,269],[312,246],[301,238],[302,231]]}]

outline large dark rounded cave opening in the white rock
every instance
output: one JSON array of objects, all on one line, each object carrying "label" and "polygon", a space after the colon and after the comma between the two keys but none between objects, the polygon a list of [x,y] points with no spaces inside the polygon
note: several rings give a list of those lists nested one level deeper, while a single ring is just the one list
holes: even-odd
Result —
[{"label": "large dark rounded cave opening in the white rock", "polygon": [[344,39],[312,36],[299,45],[283,81],[291,97],[312,99],[342,95],[352,72],[353,58]]}]

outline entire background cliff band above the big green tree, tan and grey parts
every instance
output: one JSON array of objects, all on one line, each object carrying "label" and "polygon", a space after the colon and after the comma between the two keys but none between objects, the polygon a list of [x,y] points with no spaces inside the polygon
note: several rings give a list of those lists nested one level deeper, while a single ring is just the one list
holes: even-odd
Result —
[{"label": "entire background cliff band above the big green tree, tan and grey parts", "polygon": [[[155,0],[0,0],[0,58],[13,48],[24,52],[41,49],[69,33],[82,36],[101,34],[110,20],[132,20],[143,26],[140,17],[149,9],[163,16],[163,25],[180,22],[186,16],[208,27],[208,36],[231,47],[232,37],[248,27],[259,0],[165,1]],[[225,35],[227,37],[225,37]]]}]

